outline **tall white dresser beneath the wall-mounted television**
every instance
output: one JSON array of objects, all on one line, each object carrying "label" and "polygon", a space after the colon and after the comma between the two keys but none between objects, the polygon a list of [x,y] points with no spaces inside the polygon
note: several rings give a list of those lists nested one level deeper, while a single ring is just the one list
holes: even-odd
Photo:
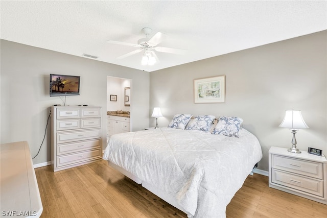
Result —
[{"label": "tall white dresser beneath the wall-mounted television", "polygon": [[51,107],[51,127],[54,172],[102,158],[101,107]]}]

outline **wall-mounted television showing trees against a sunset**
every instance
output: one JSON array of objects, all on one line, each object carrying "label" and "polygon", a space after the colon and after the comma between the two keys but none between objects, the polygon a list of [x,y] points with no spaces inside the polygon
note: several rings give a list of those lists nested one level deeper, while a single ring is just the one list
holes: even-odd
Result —
[{"label": "wall-mounted television showing trees against a sunset", "polygon": [[80,76],[50,74],[50,96],[80,94]]}]

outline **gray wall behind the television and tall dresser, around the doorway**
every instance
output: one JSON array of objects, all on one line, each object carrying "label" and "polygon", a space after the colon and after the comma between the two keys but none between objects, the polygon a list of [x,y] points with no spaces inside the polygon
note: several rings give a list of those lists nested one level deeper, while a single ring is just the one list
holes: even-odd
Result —
[{"label": "gray wall behind the television and tall dresser, around the doorway", "polygon": [[[83,57],[1,40],[1,143],[26,140],[31,155],[42,142],[50,106],[63,105],[49,96],[50,74],[81,76],[79,96],[66,105],[102,107],[102,145],[106,146],[107,76],[132,80],[132,130],[149,125],[149,73]],[[136,98],[142,96],[142,98]],[[50,161],[50,124],[34,164]]]}]

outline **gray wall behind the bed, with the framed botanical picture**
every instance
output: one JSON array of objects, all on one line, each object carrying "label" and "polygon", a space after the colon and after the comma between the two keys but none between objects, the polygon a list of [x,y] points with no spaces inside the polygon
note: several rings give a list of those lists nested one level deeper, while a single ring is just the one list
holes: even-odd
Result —
[{"label": "gray wall behind the bed, with the framed botanical picture", "polygon": [[[326,43],[323,31],[151,72],[150,110],[161,108],[161,127],[176,113],[242,117],[261,142],[258,168],[268,171],[269,148],[291,147],[291,131],[278,127],[285,110],[299,109],[310,129],[297,132],[297,147],[327,155]],[[226,75],[226,103],[194,104],[193,80],[218,75]]]}]

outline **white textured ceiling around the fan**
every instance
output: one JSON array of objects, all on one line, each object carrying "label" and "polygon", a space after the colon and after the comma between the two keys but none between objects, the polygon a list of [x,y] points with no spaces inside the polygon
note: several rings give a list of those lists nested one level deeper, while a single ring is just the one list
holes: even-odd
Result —
[{"label": "white textured ceiling around the fan", "polygon": [[[145,71],[248,49],[327,29],[326,1],[1,1],[5,40]],[[142,66],[142,28],[165,33],[159,63]],[[150,37],[152,36],[150,35]]]}]

